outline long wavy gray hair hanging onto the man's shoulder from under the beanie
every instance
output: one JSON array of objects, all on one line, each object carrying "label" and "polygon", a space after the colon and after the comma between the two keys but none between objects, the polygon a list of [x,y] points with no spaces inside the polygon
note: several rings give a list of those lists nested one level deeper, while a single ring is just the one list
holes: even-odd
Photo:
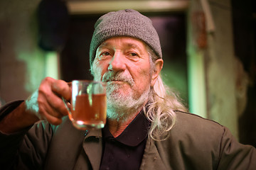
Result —
[{"label": "long wavy gray hair hanging onto the man's shoulder from under the beanie", "polygon": [[[151,72],[154,72],[154,62],[159,58],[147,47],[149,52],[149,62]],[[161,75],[157,77],[156,83],[151,87],[149,92],[149,102],[144,106],[146,118],[151,121],[149,137],[154,140],[165,140],[168,137],[169,130],[176,123],[175,111],[187,111],[178,96],[164,85]]]}]

